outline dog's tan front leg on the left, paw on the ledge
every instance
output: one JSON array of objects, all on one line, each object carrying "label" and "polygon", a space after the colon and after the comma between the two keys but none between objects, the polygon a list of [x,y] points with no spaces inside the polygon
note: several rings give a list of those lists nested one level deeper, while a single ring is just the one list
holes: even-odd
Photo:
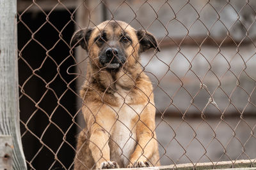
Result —
[{"label": "dog's tan front leg on the left, paw on the ledge", "polygon": [[92,125],[89,148],[96,164],[96,169],[118,168],[116,162],[110,161],[109,136],[99,124]]}]

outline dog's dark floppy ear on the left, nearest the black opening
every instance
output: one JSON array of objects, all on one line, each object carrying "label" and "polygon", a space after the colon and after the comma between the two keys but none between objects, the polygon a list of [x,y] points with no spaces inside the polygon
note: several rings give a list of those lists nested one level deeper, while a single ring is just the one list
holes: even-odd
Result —
[{"label": "dog's dark floppy ear on the left, nearest the black opening", "polygon": [[88,50],[88,41],[90,39],[90,35],[92,34],[92,28],[81,29],[76,31],[71,38],[70,47],[76,47],[81,45],[84,50]]}]

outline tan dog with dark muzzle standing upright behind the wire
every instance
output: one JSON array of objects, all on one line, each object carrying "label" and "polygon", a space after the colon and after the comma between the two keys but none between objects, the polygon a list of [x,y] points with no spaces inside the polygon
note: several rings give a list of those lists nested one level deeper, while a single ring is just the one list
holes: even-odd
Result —
[{"label": "tan dog with dark muzzle standing upright behind the wire", "polygon": [[152,83],[140,64],[142,52],[160,51],[156,38],[108,20],[75,32],[70,46],[79,45],[90,59],[74,169],[159,166]]}]

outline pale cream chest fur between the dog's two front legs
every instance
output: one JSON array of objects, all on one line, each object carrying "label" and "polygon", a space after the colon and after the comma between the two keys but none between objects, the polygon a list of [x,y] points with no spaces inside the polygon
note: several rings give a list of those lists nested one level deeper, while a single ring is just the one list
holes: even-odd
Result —
[{"label": "pale cream chest fur between the dog's two front legs", "polygon": [[127,166],[136,146],[136,122],[143,106],[141,104],[128,105],[123,102],[113,110],[115,110],[116,122],[111,132],[111,160]]}]

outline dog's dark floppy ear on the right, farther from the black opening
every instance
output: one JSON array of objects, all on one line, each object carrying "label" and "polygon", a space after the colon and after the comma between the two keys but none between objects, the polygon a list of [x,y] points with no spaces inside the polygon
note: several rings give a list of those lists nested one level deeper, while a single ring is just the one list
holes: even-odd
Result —
[{"label": "dog's dark floppy ear on the right, farther from the black opening", "polygon": [[145,52],[150,48],[156,48],[160,52],[156,38],[151,33],[140,29],[137,31],[137,36],[140,42],[140,52]]}]

